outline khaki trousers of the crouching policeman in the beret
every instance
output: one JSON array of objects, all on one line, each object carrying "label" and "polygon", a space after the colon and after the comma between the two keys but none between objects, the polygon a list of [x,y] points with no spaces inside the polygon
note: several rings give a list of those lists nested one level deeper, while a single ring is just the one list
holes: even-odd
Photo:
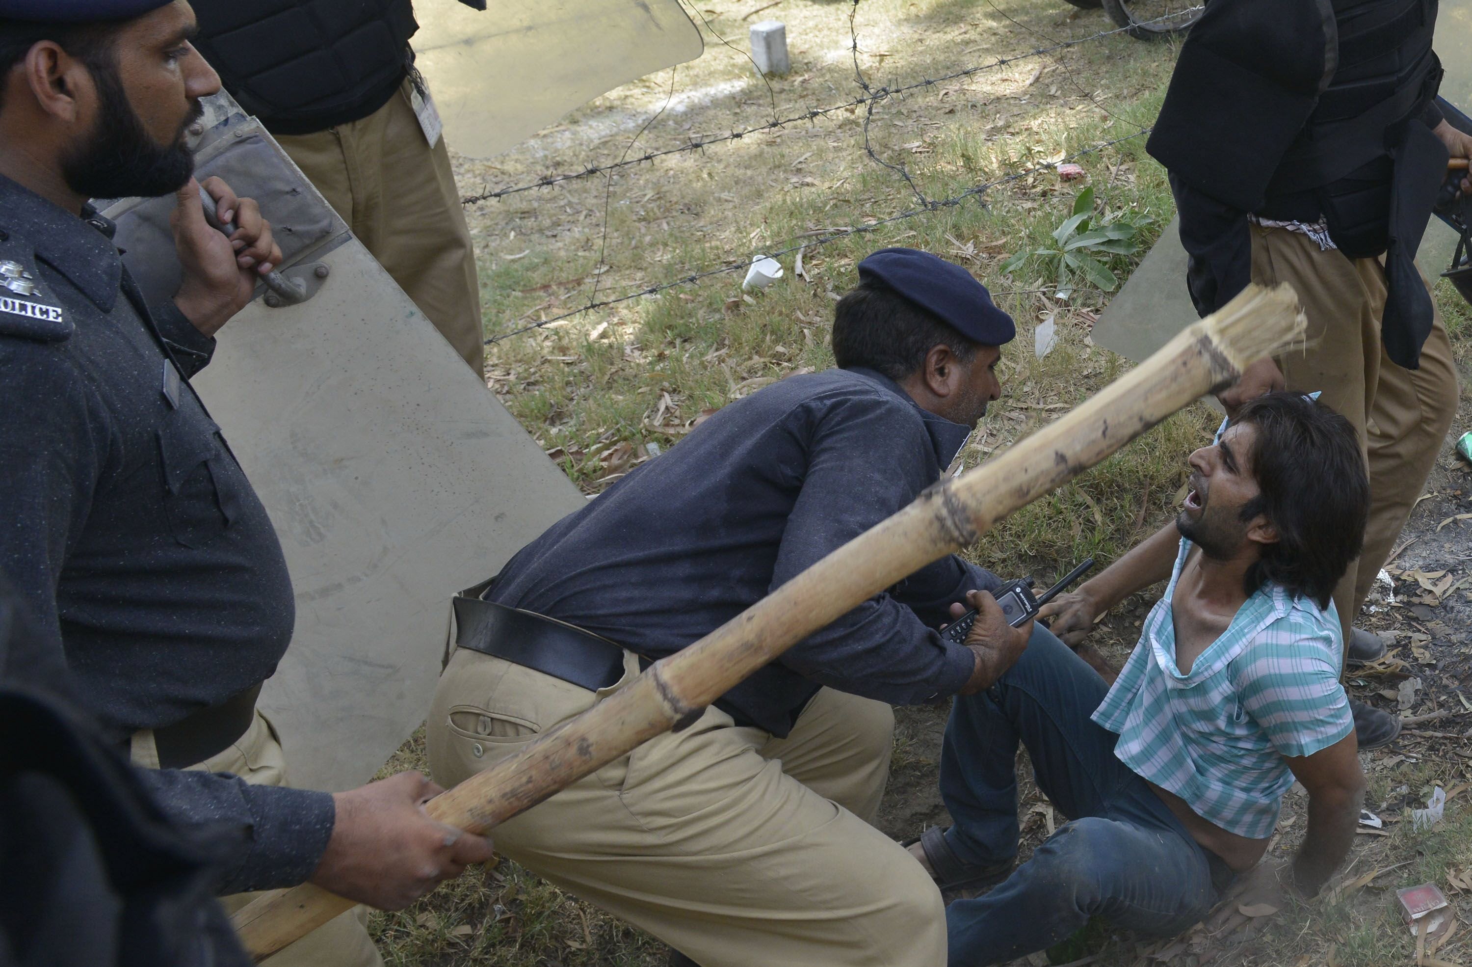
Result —
[{"label": "khaki trousers of the crouching policeman in the beret", "polygon": [[[593,693],[461,649],[430,709],[443,786],[515,754]],[[888,705],[823,689],[792,734],[710,708],[680,733],[496,827],[496,849],[702,967],[945,964],[941,893],[866,820],[889,773]]]}]

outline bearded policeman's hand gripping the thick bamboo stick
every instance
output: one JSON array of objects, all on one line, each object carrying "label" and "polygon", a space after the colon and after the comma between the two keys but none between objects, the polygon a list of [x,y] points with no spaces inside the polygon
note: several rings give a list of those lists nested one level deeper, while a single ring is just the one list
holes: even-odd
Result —
[{"label": "bearded policeman's hand gripping the thick bamboo stick", "polygon": [[378,910],[400,910],[468,864],[490,860],[489,839],[424,811],[442,792],[420,773],[399,773],[333,793],[337,821],[312,883]]}]

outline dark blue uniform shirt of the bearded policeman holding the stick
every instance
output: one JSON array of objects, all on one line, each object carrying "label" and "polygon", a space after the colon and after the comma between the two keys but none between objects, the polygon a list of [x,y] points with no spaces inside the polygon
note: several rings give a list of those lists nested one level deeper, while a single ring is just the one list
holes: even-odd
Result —
[{"label": "dark blue uniform shirt of the bearded policeman holding the stick", "polygon": [[[187,383],[213,340],[172,305],[150,314],[88,215],[0,177],[0,262],[63,316],[0,312],[0,570],[122,740],[268,677],[294,605],[265,508]],[[250,832],[230,890],[300,883],[331,835],[327,793],[150,779],[175,818]]]}]

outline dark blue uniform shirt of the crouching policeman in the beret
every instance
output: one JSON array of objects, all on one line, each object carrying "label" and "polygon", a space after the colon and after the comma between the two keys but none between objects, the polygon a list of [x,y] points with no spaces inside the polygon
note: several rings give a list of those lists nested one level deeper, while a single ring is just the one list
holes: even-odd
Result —
[{"label": "dark blue uniform shirt of the crouching policeman in the beret", "polygon": [[[486,598],[661,658],[914,500],[967,434],[868,369],[788,377],[553,524]],[[899,705],[954,695],[974,659],[935,627],[966,592],[997,584],[945,556],[808,636],[720,705],[786,736],[821,684]]]}]

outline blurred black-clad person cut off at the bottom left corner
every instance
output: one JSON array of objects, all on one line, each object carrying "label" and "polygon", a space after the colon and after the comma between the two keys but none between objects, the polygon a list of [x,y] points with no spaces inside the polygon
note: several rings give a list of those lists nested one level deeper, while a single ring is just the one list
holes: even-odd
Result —
[{"label": "blurred black-clad person cut off at the bottom left corner", "polygon": [[0,949],[53,967],[246,967],[210,889],[241,830],[171,824],[44,637],[0,574],[0,734],[28,739],[0,754]]}]

